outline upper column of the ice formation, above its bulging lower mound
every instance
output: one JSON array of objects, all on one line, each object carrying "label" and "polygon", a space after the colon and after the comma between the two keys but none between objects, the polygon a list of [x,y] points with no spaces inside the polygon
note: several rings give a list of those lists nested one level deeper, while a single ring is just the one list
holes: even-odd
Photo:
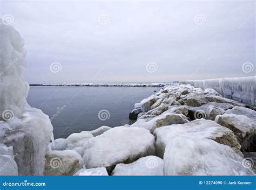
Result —
[{"label": "upper column of the ice formation, above its bulging lower mound", "polygon": [[0,120],[21,117],[29,85],[24,80],[24,40],[10,25],[0,23]]}]

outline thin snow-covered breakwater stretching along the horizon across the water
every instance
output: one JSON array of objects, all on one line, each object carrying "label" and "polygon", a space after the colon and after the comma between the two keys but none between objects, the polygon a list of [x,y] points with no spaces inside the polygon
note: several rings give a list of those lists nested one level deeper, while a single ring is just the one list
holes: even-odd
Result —
[{"label": "thin snow-covered breakwater stretching along the horizon across the water", "polygon": [[30,86],[85,86],[85,87],[164,87],[167,83],[63,83],[31,84]]}]

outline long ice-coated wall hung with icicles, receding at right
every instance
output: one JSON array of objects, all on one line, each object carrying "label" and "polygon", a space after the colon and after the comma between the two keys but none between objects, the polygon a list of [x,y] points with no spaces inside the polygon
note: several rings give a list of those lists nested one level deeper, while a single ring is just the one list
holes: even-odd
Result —
[{"label": "long ice-coated wall hung with icicles, receding at right", "polygon": [[213,88],[224,97],[256,105],[256,76],[180,81],[198,88]]}]

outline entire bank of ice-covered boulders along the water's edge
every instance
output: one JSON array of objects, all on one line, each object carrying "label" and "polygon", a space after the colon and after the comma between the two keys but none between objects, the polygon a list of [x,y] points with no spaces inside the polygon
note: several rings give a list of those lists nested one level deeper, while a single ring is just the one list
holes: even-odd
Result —
[{"label": "entire bank of ice-covered boulders along the water's edge", "polygon": [[61,170],[50,174],[254,175],[248,156],[255,154],[256,111],[245,104],[213,89],[175,83],[135,108],[140,111],[132,111],[137,116],[132,125],[102,126],[56,139],[46,158],[62,160],[62,152],[76,151],[79,156],[69,156],[83,164],[70,167],[75,164],[69,160],[64,168],[62,161]]}]

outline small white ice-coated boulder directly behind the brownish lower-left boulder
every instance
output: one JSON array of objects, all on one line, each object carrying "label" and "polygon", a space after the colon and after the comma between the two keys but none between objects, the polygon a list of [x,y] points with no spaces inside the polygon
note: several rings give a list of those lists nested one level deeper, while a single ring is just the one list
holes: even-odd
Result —
[{"label": "small white ice-coated boulder directly behind the brownish lower-left boulder", "polygon": [[66,138],[66,142],[68,143],[66,149],[71,150],[78,146],[83,147],[90,138],[93,138],[91,133],[72,133],[68,138]]}]

